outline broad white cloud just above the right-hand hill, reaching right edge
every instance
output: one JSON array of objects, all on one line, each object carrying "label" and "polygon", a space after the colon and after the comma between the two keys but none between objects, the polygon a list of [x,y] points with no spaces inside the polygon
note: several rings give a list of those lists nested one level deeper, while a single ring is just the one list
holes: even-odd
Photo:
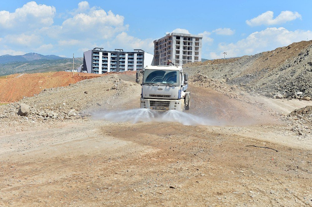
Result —
[{"label": "broad white cloud just above the right-hand hill, reaching right edge", "polygon": [[[218,45],[219,52],[215,54],[227,52],[229,57],[251,55],[290,45],[293,42],[299,42],[307,38],[309,40],[312,39],[312,31],[289,31],[284,27],[271,27],[259,32],[253,32],[245,39],[239,40],[236,43],[220,43]],[[211,54],[212,56],[214,54]]]}]

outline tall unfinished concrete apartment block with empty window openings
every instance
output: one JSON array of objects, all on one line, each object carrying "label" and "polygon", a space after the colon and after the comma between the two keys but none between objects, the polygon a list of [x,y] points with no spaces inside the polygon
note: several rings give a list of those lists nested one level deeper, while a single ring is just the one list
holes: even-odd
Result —
[{"label": "tall unfinished concrete apartment block with empty window openings", "polygon": [[182,66],[202,60],[202,35],[169,33],[154,40],[153,65],[166,65],[168,59]]}]

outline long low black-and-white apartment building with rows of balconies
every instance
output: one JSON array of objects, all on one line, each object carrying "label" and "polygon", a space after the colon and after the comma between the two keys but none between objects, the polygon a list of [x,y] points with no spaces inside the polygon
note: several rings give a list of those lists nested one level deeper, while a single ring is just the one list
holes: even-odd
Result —
[{"label": "long low black-and-white apartment building with rows of balconies", "polygon": [[98,74],[142,70],[146,65],[152,64],[153,57],[142,49],[124,52],[123,49],[106,51],[103,48],[94,48],[83,53],[83,65],[80,70]]}]

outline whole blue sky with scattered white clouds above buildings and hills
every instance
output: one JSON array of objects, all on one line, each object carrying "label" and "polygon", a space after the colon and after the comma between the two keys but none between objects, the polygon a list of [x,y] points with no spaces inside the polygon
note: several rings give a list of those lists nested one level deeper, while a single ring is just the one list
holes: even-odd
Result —
[{"label": "whole blue sky with scattered white clouds above buildings and hills", "polygon": [[[168,6],[166,6],[168,5]],[[311,40],[311,1],[0,1],[0,55],[81,57],[144,49],[166,32],[203,35],[202,58],[256,54]]]}]

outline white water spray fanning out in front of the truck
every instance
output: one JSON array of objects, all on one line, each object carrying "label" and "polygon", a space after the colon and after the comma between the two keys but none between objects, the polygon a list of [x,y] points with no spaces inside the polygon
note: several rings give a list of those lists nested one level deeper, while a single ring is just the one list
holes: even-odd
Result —
[{"label": "white water spray fanning out in front of the truck", "polygon": [[130,109],[126,111],[104,111],[93,114],[95,119],[104,119],[111,122],[176,122],[183,125],[209,125],[220,126],[220,122],[205,119],[181,111],[169,110],[166,112],[152,111],[150,109]]}]

